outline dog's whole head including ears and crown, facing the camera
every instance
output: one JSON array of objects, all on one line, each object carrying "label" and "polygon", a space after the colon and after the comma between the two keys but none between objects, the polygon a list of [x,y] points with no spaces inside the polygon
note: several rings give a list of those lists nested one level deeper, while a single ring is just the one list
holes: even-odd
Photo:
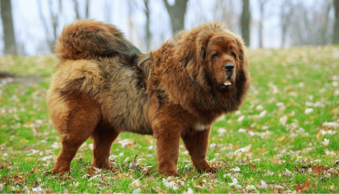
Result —
[{"label": "dog's whole head including ears and crown, facing the camera", "polygon": [[205,30],[200,35],[200,57],[207,67],[210,86],[222,93],[231,91],[237,87],[237,80],[249,77],[244,42],[219,23]]}]

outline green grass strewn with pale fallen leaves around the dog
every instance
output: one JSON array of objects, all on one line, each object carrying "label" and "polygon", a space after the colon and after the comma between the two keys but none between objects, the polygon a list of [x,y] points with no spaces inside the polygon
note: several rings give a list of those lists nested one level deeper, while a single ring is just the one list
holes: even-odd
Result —
[{"label": "green grass strewn with pale fallen leaves around the dog", "polygon": [[210,135],[207,160],[221,169],[198,173],[181,143],[181,177],[167,178],[156,171],[156,140],[131,133],[113,143],[117,169],[92,169],[87,140],[69,174],[48,174],[61,150],[46,108],[58,61],[0,57],[0,71],[46,78],[0,85],[0,193],[339,193],[339,128],[325,123],[339,123],[339,48],[250,49],[248,58],[247,100]]}]

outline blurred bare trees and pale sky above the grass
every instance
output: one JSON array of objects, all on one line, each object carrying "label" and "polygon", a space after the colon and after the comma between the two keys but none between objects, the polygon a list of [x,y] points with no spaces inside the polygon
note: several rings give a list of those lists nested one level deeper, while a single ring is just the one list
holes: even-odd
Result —
[{"label": "blurred bare trees and pale sky above the grass", "polygon": [[118,26],[142,51],[219,20],[250,48],[339,44],[339,0],[0,0],[0,54],[52,53],[77,18]]}]

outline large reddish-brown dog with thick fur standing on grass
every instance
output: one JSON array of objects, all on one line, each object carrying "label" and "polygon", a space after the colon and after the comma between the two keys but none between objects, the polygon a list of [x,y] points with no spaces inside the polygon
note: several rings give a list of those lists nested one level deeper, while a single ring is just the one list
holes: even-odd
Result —
[{"label": "large reddish-brown dog with thick fur standing on grass", "polygon": [[92,165],[110,168],[122,131],[157,139],[161,173],[177,175],[180,138],[198,170],[214,170],[205,159],[211,125],[239,108],[249,86],[240,36],[210,22],[142,54],[113,25],[79,20],[64,27],[56,51],[61,63],[47,104],[62,151],[52,172],[69,171],[89,137]]}]

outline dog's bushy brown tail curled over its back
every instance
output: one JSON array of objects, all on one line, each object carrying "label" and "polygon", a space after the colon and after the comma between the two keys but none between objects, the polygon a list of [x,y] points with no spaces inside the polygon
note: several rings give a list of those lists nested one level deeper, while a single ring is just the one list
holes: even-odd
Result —
[{"label": "dog's bushy brown tail curled over its back", "polygon": [[93,19],[77,20],[65,26],[55,52],[62,60],[142,54],[114,25]]}]

